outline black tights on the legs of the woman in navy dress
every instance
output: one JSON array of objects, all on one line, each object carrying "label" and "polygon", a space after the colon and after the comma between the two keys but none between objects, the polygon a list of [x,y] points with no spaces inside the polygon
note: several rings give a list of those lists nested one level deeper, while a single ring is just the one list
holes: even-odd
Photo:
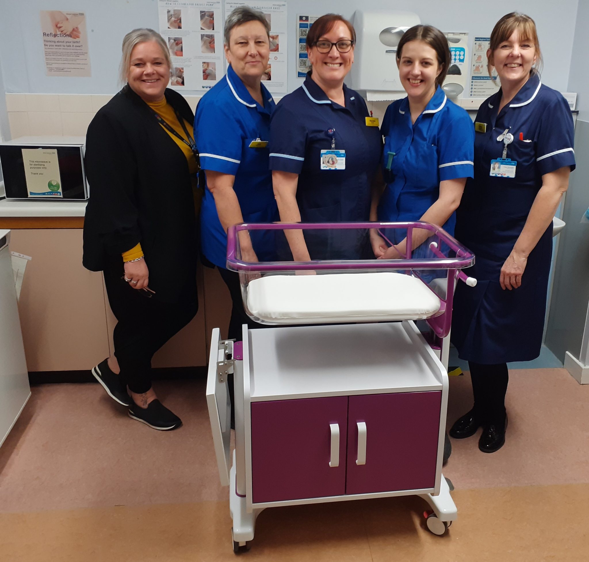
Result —
[{"label": "black tights on the legs of the woman in navy dress", "polygon": [[505,394],[509,374],[507,363],[481,365],[468,362],[471,370],[474,411],[483,421],[501,423],[505,418]]}]

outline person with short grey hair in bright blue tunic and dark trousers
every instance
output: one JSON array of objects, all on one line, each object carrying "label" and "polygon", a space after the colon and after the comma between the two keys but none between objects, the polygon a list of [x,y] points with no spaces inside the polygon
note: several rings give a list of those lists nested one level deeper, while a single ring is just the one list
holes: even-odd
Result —
[{"label": "person with short grey hair in bright blue tunic and dark trousers", "polygon": [[[240,6],[227,18],[227,74],[198,102],[194,136],[207,186],[201,209],[201,247],[219,268],[231,293],[229,338],[241,340],[241,325],[260,327],[243,310],[239,275],[226,269],[227,228],[278,218],[268,167],[272,95],[262,84],[270,56],[270,26],[262,12]],[[270,232],[250,239],[240,233],[241,257],[272,259]]]}]

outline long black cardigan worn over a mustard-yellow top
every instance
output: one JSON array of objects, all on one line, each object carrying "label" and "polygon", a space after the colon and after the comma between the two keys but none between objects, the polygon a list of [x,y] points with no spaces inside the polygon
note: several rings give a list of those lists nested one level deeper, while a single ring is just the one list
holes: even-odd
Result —
[{"label": "long black cardigan worn over a mustard-yellow top", "polygon": [[[166,89],[188,122],[186,100]],[[147,104],[125,86],[88,127],[84,167],[90,199],[84,221],[84,267],[120,268],[121,254],[141,242],[149,285],[164,301],[196,299],[198,254],[186,156]]]}]

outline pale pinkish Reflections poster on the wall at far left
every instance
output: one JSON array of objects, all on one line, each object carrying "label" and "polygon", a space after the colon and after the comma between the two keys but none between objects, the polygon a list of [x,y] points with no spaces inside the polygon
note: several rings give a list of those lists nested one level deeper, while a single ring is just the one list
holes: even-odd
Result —
[{"label": "pale pinkish Reflections poster on the wall at far left", "polygon": [[42,10],[41,36],[47,76],[90,76],[84,12]]}]

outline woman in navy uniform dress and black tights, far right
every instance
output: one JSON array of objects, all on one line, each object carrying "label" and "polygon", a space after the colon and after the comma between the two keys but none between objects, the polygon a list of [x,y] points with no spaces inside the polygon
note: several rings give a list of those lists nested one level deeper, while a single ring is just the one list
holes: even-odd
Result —
[{"label": "woman in navy uniform dress and black tights, far right", "polygon": [[475,177],[456,221],[456,238],[476,255],[468,274],[478,284],[458,284],[452,324],[452,342],[469,363],[474,407],[450,434],[469,437],[482,425],[479,448],[492,453],[505,443],[507,363],[540,354],[552,217],[575,158],[568,104],[536,69],[534,21],[505,15],[487,55],[501,89],[478,111]]}]

